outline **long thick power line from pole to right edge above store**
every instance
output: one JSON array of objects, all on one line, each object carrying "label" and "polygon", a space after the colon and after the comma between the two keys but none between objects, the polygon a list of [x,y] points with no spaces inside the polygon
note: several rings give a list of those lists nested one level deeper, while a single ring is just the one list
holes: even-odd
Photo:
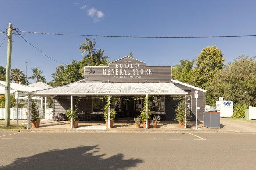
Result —
[{"label": "long thick power line from pole to right edge above store", "polygon": [[90,37],[119,37],[119,38],[226,38],[226,37],[255,37],[256,35],[231,35],[231,36],[114,36],[114,35],[77,35],[77,34],[58,34],[58,33],[46,33],[46,32],[28,32],[28,31],[17,31],[24,33],[34,33],[34,34],[50,34],[50,35],[72,35],[72,36],[90,36]]}]

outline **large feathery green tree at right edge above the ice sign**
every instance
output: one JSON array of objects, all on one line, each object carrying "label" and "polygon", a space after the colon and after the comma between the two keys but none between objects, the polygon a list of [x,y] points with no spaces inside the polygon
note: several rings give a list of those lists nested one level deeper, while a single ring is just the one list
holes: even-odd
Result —
[{"label": "large feathery green tree at right edge above the ice sign", "polygon": [[238,56],[216,73],[209,93],[214,97],[225,97],[234,103],[255,106],[256,102],[256,57]]}]

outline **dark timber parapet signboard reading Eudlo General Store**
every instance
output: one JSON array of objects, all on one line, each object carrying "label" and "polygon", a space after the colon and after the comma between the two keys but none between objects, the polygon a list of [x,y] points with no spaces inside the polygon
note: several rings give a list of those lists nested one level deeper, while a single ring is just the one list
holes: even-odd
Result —
[{"label": "dark timber parapet signboard reading Eudlo General Store", "polygon": [[94,82],[171,82],[171,66],[146,66],[131,57],[108,66],[85,67],[85,81]]}]

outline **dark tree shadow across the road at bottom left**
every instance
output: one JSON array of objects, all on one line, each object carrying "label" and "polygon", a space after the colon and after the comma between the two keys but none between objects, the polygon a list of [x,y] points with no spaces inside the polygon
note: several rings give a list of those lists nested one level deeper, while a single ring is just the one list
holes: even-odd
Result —
[{"label": "dark tree shadow across the road at bottom left", "polygon": [[[65,170],[65,169],[94,169],[109,170],[136,167],[137,164],[143,163],[141,159],[124,159],[124,155],[108,157],[107,154],[96,155],[99,152],[98,145],[95,146],[78,146],[69,149],[54,149],[39,153],[29,157],[17,158],[13,163],[1,166],[0,170],[17,170],[17,169],[38,169],[38,170]],[[107,158],[103,158],[103,157]]]}]

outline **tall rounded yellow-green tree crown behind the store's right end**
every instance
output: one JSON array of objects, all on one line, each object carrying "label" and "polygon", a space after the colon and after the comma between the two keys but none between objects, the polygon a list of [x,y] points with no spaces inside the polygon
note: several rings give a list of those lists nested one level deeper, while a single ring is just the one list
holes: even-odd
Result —
[{"label": "tall rounded yellow-green tree crown behind the store's right end", "polygon": [[218,70],[221,70],[225,58],[216,46],[206,47],[199,54],[196,67],[193,72],[192,84],[196,87],[205,88],[213,80]]}]

